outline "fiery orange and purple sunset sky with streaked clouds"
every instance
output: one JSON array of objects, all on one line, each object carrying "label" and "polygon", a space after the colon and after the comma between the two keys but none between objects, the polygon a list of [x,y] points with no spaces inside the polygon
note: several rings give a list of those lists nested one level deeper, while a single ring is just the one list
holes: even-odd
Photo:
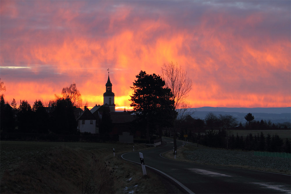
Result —
[{"label": "fiery orange and purple sunset sky with streaked clouds", "polygon": [[130,109],[141,70],[171,61],[193,85],[192,107],[291,106],[291,1],[0,1],[4,99],[49,101],[76,83]]}]

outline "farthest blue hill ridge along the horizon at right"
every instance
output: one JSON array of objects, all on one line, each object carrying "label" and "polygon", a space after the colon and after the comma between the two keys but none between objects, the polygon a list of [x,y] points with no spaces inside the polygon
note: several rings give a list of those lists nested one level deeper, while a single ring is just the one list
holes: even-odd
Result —
[{"label": "farthest blue hill ridge along the horizon at right", "polygon": [[211,111],[211,112],[238,112],[238,113],[291,113],[291,107],[274,107],[274,108],[227,108],[227,107],[210,107],[203,106],[196,108],[196,111]]}]

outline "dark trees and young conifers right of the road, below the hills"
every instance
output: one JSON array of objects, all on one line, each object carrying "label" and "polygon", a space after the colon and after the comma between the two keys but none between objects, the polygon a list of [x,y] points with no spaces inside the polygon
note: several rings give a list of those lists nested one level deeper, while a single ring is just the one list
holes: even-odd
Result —
[{"label": "dark trees and young conifers right of the road, below the hills", "polygon": [[[184,135],[188,136],[188,140],[194,143],[202,144],[208,147],[216,147],[222,149],[240,149],[240,150],[254,150],[254,151],[267,151],[267,152],[286,152],[291,153],[290,140],[285,141],[277,134],[249,133],[244,138],[238,134],[230,134],[230,130],[239,128],[240,130],[266,130],[266,129],[290,129],[290,122],[285,124],[275,124],[271,121],[256,121],[251,113],[245,116],[247,120],[245,127],[242,123],[237,123],[237,120],[232,115],[215,115],[210,112],[207,113],[205,120],[194,119],[188,116],[181,124],[180,132],[177,136],[184,139]],[[239,127],[237,127],[239,126]],[[206,133],[205,129],[210,129]],[[217,129],[217,130],[214,130]],[[192,131],[196,131],[193,133]],[[198,131],[198,133],[197,133]],[[166,136],[169,133],[166,131]],[[180,136],[179,136],[180,135]]]}]

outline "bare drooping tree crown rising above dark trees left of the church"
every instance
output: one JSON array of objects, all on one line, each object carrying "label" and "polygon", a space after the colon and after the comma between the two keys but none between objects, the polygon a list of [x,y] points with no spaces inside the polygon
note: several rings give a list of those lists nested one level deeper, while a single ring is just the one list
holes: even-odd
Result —
[{"label": "bare drooping tree crown rising above dark trees left of the church", "polygon": [[76,87],[76,83],[72,83],[70,87],[65,87],[62,90],[63,98],[68,98],[72,102],[73,106],[82,106],[82,95]]}]

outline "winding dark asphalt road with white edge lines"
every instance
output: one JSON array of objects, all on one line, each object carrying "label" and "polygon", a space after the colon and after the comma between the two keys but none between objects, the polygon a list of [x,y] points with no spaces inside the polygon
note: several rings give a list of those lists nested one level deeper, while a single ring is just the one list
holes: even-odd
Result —
[{"label": "winding dark asphalt road with white edge lines", "polygon": [[[180,185],[185,193],[291,193],[291,176],[255,170],[201,165],[163,158],[173,150],[173,140],[166,145],[142,151],[146,168],[154,168]],[[182,142],[177,141],[178,147]],[[122,155],[140,163],[139,152]],[[142,169],[141,169],[142,170]]]}]

